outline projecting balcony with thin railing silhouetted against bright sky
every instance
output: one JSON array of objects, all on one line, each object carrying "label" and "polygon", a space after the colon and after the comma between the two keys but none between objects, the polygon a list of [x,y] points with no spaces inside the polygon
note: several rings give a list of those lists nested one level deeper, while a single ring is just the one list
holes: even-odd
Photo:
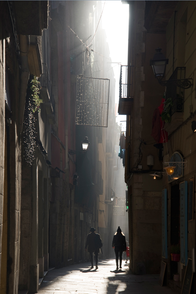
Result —
[{"label": "projecting balcony with thin railing silhouetted against bright sky", "polygon": [[119,103],[118,113],[130,115],[133,107],[133,96],[131,81],[132,81],[133,66],[120,66],[120,81],[119,81]]}]

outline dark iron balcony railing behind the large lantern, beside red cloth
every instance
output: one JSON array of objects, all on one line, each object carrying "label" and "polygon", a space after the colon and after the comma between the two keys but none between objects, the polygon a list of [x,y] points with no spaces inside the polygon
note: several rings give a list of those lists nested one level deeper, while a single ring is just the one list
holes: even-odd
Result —
[{"label": "dark iron balcony railing behind the large lantern, beside red cloth", "polygon": [[[169,80],[177,80],[185,78],[186,67],[177,67]],[[166,100],[172,98],[173,106],[171,107],[171,116],[175,112],[184,111],[184,88],[178,87],[175,83],[168,83],[166,89]]]}]

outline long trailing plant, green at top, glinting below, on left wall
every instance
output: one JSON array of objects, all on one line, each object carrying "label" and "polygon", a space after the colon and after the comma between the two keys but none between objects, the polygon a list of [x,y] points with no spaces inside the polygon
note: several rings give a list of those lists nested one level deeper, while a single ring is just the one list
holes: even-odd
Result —
[{"label": "long trailing plant, green at top, glinting below, on left wall", "polygon": [[40,111],[40,104],[43,102],[39,97],[40,83],[36,77],[31,75],[27,84],[26,103],[24,111],[24,158],[32,165],[35,159],[35,114]]}]

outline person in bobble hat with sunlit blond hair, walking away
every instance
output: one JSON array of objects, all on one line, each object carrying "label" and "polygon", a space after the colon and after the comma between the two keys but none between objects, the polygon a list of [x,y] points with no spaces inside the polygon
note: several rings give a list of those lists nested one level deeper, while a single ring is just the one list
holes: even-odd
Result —
[{"label": "person in bobble hat with sunlit blond hair, walking away", "polygon": [[119,267],[122,268],[122,255],[123,251],[126,251],[127,244],[125,235],[122,233],[120,227],[118,227],[117,232],[115,233],[112,241],[112,247],[114,248],[116,255],[116,269],[118,270],[118,257],[120,260]]}]

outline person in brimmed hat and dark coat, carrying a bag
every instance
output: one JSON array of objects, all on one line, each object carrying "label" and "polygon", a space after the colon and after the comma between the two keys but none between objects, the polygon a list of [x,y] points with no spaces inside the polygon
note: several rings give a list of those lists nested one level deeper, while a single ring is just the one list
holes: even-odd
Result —
[{"label": "person in brimmed hat and dark coat, carrying a bag", "polygon": [[91,268],[93,268],[93,263],[94,263],[94,258],[93,255],[95,253],[95,267],[96,270],[98,269],[98,254],[99,254],[99,249],[103,246],[102,240],[100,238],[99,234],[96,234],[95,228],[90,229],[91,233],[87,235],[86,238],[86,245],[85,245],[85,250],[87,251],[88,247],[88,252],[90,253],[91,256]]}]

